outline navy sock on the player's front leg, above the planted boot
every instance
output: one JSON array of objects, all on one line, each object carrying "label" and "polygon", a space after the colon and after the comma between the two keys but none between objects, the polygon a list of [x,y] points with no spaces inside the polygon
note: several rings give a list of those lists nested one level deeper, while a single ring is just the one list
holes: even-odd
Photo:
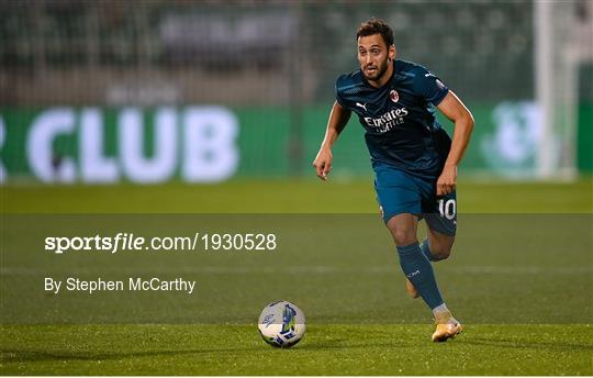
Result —
[{"label": "navy sock on the player's front leg, above the planted boot", "polygon": [[430,309],[444,303],[435,279],[433,265],[423,255],[418,242],[398,247],[400,266]]}]

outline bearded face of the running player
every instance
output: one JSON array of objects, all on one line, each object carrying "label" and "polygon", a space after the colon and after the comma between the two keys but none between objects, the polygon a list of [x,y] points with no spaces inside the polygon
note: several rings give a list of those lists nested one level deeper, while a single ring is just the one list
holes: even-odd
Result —
[{"label": "bearded face of the running player", "polygon": [[358,63],[367,80],[378,81],[388,70],[389,49],[379,34],[358,38]]}]

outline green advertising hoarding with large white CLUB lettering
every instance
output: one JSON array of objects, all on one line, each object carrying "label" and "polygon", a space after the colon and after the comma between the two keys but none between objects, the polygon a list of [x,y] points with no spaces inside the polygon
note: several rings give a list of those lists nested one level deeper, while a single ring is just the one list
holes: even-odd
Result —
[{"label": "green advertising hoarding with large white CLUB lettering", "polygon": [[[475,129],[462,174],[529,177],[536,171],[537,107],[469,104]],[[0,110],[5,182],[189,182],[287,177],[309,170],[325,133],[327,107],[45,108]],[[592,169],[593,107],[580,108],[579,168]],[[441,120],[448,131],[449,121]],[[558,141],[561,145],[562,141]],[[334,148],[334,175],[370,176],[356,116]],[[307,171],[309,170],[309,171]]]}]

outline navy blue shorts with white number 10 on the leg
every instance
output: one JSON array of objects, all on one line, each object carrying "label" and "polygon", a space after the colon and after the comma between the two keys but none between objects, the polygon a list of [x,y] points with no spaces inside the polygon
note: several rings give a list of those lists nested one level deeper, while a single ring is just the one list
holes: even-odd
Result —
[{"label": "navy blue shorts with white number 10 on the leg", "polygon": [[412,176],[388,164],[374,164],[374,190],[387,223],[402,213],[418,215],[428,227],[445,235],[457,232],[457,194],[436,197],[436,179]]}]

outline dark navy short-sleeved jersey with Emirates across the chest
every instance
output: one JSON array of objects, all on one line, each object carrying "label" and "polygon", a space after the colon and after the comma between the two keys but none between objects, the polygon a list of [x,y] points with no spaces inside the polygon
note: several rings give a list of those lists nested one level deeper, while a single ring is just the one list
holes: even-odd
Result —
[{"label": "dark navy short-sleeved jersey with Emirates across the chest", "polygon": [[373,166],[385,163],[436,178],[447,153],[443,140],[450,140],[435,118],[435,107],[449,89],[421,65],[405,60],[393,65],[393,76],[381,88],[372,87],[360,70],[340,76],[336,100],[358,114]]}]

